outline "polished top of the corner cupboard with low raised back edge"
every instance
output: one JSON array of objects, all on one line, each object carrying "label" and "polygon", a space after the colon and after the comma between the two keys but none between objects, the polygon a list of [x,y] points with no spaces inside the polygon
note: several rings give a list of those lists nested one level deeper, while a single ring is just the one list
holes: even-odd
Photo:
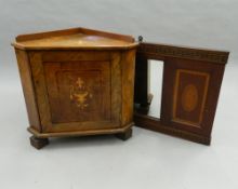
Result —
[{"label": "polished top of the corner cupboard with low raised back edge", "polygon": [[130,36],[85,28],[21,35],[12,43],[17,49],[131,49],[137,43]]}]

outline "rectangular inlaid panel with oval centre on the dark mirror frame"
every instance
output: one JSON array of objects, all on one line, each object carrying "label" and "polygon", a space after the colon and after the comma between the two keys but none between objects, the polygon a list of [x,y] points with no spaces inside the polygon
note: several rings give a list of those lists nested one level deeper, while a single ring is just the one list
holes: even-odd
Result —
[{"label": "rectangular inlaid panel with oval centre on the dark mirror frame", "polygon": [[177,69],[173,95],[173,121],[200,127],[208,93],[209,73]]}]

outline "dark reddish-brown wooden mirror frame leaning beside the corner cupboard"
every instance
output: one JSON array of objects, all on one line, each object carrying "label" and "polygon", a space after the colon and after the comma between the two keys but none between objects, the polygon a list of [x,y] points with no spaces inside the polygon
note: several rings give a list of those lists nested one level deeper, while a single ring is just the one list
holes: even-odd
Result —
[{"label": "dark reddish-brown wooden mirror frame leaning beside the corner cupboard", "polygon": [[135,103],[143,105],[148,100],[147,86],[140,85],[140,80],[148,83],[145,69],[141,69],[145,59],[163,60],[162,97],[160,119],[135,110],[135,125],[210,144],[227,58],[228,52],[141,43],[135,72],[135,93],[140,93],[135,94]]}]

